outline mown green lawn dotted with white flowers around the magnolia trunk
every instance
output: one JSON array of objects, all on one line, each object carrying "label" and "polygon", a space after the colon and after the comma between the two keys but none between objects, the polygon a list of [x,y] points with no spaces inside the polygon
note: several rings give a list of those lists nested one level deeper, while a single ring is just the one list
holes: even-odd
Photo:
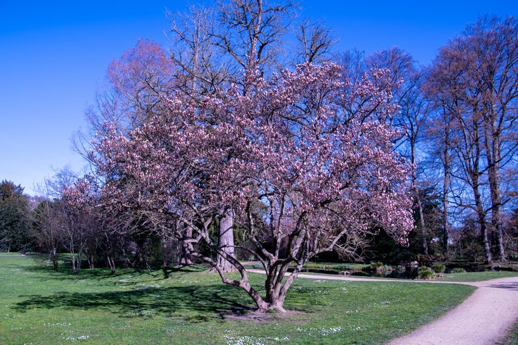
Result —
[{"label": "mown green lawn dotted with white flowers around the magnolia trunk", "polygon": [[[472,286],[297,279],[289,317],[233,319],[251,299],[204,268],[72,275],[0,256],[0,344],[380,344],[438,317]],[[264,275],[251,275],[260,286]]]}]

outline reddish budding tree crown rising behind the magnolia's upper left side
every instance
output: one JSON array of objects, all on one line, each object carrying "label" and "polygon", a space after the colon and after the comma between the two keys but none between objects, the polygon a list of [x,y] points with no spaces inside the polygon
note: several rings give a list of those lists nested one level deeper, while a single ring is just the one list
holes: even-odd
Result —
[{"label": "reddish budding tree crown rising behind the magnolia's upper left side", "polygon": [[76,137],[75,144],[83,155],[89,152],[90,141],[104,130],[106,122],[127,134],[159,113],[160,95],[168,95],[176,85],[171,59],[158,43],[146,39],[140,39],[122,57],[113,60],[106,79],[106,89],[97,93],[95,106],[86,114],[90,132],[78,133]]}]

